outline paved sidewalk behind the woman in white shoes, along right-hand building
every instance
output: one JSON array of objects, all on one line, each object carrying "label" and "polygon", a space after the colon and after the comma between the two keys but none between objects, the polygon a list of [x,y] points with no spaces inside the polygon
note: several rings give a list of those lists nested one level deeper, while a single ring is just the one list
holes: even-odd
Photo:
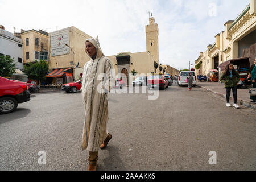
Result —
[{"label": "paved sidewalk behind the woman in white shoes, along right-hand building", "polygon": [[[208,92],[212,92],[217,94],[218,96],[226,98],[226,89],[224,84],[220,84],[219,82],[196,82],[197,86],[204,88]],[[237,104],[241,104],[243,106],[249,107],[251,109],[256,109],[256,104],[251,103],[249,89],[237,89]],[[233,101],[233,93],[231,92],[230,100]]]}]

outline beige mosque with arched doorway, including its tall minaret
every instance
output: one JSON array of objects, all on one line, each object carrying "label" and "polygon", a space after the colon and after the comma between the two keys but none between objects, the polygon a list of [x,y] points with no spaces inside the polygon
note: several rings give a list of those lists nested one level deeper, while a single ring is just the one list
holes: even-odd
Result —
[{"label": "beige mosque with arched doorway, including its tall minaret", "polygon": [[146,26],[146,52],[121,52],[117,55],[108,56],[114,64],[115,73],[119,74],[118,78],[126,77],[126,82],[131,84],[134,77],[129,74],[132,71],[137,72],[136,76],[159,73],[158,35],[158,24],[155,23],[155,18],[151,17]]}]

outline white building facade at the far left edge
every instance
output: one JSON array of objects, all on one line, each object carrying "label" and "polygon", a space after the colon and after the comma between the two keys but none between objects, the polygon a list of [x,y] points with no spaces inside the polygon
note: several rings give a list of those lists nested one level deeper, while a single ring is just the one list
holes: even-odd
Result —
[{"label": "white building facade at the far left edge", "polygon": [[23,71],[23,42],[11,32],[0,29],[0,55],[13,58],[16,68]]}]

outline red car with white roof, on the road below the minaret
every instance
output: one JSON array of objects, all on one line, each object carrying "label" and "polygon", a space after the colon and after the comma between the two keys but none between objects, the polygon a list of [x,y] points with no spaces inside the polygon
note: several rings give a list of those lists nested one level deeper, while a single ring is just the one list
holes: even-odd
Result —
[{"label": "red car with white roof, on the road below the minaret", "polygon": [[155,75],[155,76],[150,76],[147,79],[147,88],[148,89],[166,89],[168,88],[168,81],[166,78],[164,78],[163,75]]}]

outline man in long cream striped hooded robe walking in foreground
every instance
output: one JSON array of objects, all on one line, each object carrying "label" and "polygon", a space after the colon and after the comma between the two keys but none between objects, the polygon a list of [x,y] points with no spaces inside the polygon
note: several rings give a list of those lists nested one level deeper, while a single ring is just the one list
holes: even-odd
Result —
[{"label": "man in long cream striped hooded robe walking in foreground", "polygon": [[91,60],[84,65],[82,75],[85,121],[81,150],[89,151],[88,171],[96,171],[98,151],[100,148],[104,149],[112,139],[112,135],[107,130],[109,119],[107,93],[115,84],[115,72],[113,63],[102,53],[98,39],[87,39],[85,46],[85,52]]}]

